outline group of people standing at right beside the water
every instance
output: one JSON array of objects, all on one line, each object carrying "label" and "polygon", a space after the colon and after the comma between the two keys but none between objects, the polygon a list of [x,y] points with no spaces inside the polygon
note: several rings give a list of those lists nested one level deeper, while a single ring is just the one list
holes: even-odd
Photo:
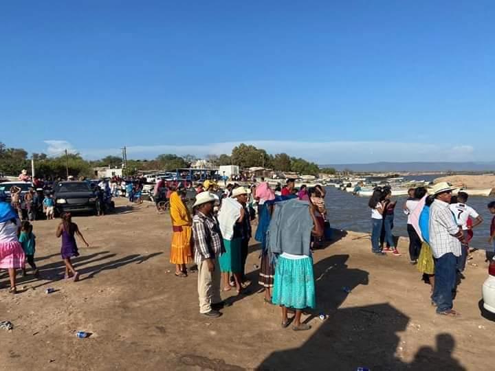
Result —
[{"label": "group of people standing at right beside the water", "polygon": [[[468,194],[441,182],[427,190],[424,187],[409,190],[404,203],[408,216],[409,258],[417,265],[425,282],[430,284],[431,304],[441,315],[457,316],[453,309],[456,287],[464,278],[466,260],[470,258],[469,242],[473,228],[483,223],[483,218],[470,205]],[[376,256],[391,252],[400,256],[392,234],[395,201],[391,201],[391,189],[375,188],[369,199],[371,208],[371,251]],[[487,205],[495,214],[495,202]],[[495,240],[495,216],[490,224],[489,243]],[[495,249],[495,244],[494,244]]]}]

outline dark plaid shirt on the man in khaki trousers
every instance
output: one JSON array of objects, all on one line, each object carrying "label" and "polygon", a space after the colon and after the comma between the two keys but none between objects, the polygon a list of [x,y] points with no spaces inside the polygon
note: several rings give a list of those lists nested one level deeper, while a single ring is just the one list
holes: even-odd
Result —
[{"label": "dark plaid shirt on the man in khaki trousers", "polygon": [[225,252],[217,220],[202,212],[198,212],[192,218],[192,240],[197,265],[205,259],[214,259]]}]

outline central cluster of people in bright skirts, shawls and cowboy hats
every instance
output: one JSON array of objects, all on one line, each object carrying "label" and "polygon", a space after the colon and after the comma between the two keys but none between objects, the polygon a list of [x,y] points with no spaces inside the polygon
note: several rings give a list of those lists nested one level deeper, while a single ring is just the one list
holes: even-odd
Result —
[{"label": "central cluster of people in bright skirts, shawls and cowboy hats", "polygon": [[[258,280],[265,302],[281,306],[283,328],[293,322],[294,330],[309,329],[300,317],[303,310],[316,306],[311,251],[322,242],[328,225],[325,190],[320,186],[297,190],[294,179],[274,190],[261,179],[249,188],[234,183],[220,192],[214,181],[207,180],[196,188],[191,216],[184,204],[186,188],[171,188],[170,262],[175,276],[186,278],[186,267],[194,260],[199,313],[219,317],[221,308],[230,305],[221,300],[222,291],[243,295],[249,289],[245,264],[254,235],[261,244]],[[258,226],[253,231],[255,218]]]}]

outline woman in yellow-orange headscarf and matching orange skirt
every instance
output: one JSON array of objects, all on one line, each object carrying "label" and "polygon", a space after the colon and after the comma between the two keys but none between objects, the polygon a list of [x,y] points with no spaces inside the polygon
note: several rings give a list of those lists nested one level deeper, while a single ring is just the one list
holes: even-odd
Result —
[{"label": "woman in yellow-orange headscarf and matching orange skirt", "polygon": [[170,194],[170,218],[172,219],[172,247],[170,262],[175,264],[175,276],[187,277],[186,264],[192,260],[191,225],[192,218],[189,210],[182,201],[184,188],[177,188]]}]

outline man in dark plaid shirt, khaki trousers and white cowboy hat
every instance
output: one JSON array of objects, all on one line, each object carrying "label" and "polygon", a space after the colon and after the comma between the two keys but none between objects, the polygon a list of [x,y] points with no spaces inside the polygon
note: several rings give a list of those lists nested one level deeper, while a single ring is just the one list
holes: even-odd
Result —
[{"label": "man in dark plaid shirt, khaki trousers and white cowboy hat", "polygon": [[199,313],[208,317],[220,317],[218,311],[225,303],[220,296],[219,257],[223,242],[217,220],[213,216],[215,198],[210,192],[201,192],[193,205],[192,239],[195,262],[198,267]]}]

